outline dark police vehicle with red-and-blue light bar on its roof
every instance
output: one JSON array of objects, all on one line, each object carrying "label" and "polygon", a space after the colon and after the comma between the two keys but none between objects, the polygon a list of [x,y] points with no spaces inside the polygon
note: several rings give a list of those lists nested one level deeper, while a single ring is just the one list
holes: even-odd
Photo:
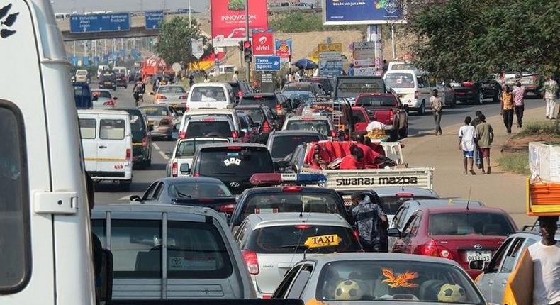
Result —
[{"label": "dark police vehicle with red-and-blue light bar on its roof", "polygon": [[335,190],[303,185],[325,181],[323,174],[254,174],[250,182],[255,188],[246,189],[237,199],[230,228],[235,233],[250,214],[312,212],[339,214],[349,221],[342,197]]}]

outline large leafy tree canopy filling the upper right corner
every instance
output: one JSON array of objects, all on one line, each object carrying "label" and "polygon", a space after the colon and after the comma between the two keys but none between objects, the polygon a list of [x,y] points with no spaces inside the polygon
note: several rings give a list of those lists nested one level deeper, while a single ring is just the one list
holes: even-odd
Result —
[{"label": "large leafy tree canopy filling the upper right corner", "polygon": [[560,73],[560,1],[423,1],[407,19],[415,65],[440,79]]}]

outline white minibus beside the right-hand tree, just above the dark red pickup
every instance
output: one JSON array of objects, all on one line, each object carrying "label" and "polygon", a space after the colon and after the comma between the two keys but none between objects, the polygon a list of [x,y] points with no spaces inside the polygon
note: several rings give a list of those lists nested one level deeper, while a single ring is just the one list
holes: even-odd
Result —
[{"label": "white minibus beside the right-hand tree, just above the dark red pickup", "polygon": [[427,72],[418,70],[389,70],[383,76],[387,90],[393,89],[401,99],[401,103],[408,105],[409,109],[425,113],[430,108],[432,90],[436,83]]}]

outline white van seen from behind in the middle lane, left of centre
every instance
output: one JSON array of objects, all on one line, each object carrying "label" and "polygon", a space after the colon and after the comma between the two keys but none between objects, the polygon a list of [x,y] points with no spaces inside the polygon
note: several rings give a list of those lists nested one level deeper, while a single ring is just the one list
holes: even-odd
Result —
[{"label": "white van seen from behind in the middle lane, left of centre", "polygon": [[186,111],[201,108],[233,108],[235,96],[228,83],[207,82],[191,86],[189,97],[186,99]]}]

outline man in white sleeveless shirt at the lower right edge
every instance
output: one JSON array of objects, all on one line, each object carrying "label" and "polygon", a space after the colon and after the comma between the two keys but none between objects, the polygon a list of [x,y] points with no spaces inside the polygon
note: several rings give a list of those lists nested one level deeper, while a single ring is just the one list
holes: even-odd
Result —
[{"label": "man in white sleeveless shirt at the lower right edge", "polygon": [[539,216],[542,240],[530,245],[533,305],[560,304],[560,243],[554,240],[558,216]]}]

